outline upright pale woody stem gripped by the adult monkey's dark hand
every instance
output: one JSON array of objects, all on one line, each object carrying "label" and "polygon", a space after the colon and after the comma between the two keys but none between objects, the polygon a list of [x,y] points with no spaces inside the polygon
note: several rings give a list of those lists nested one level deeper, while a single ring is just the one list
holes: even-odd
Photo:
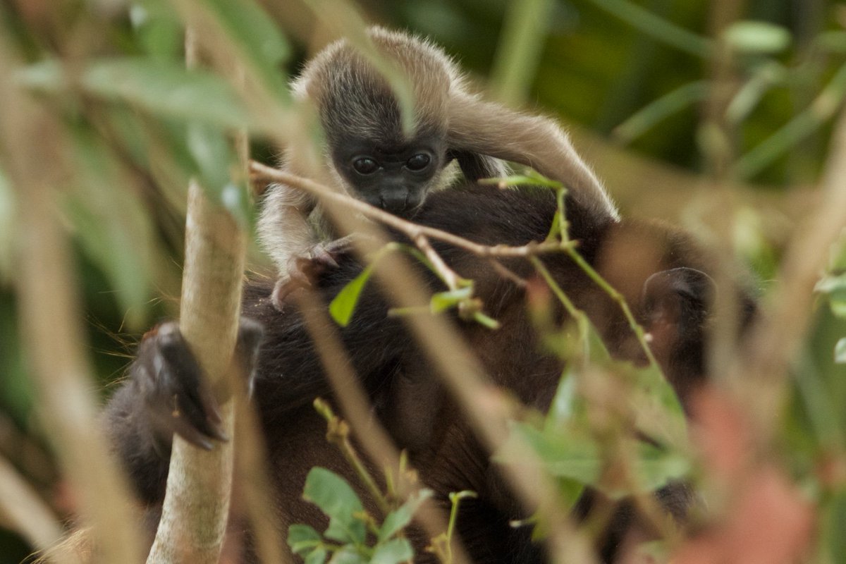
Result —
[{"label": "upright pale woody stem gripped by the adult monkey's dark hand", "polygon": [[[196,61],[186,34],[186,60]],[[224,432],[234,431],[233,351],[238,335],[245,241],[233,217],[189,187],[179,329],[212,389],[228,389],[221,407]],[[149,564],[213,564],[220,557],[232,490],[233,441],[203,451],[173,437],[168,490]]]}]

